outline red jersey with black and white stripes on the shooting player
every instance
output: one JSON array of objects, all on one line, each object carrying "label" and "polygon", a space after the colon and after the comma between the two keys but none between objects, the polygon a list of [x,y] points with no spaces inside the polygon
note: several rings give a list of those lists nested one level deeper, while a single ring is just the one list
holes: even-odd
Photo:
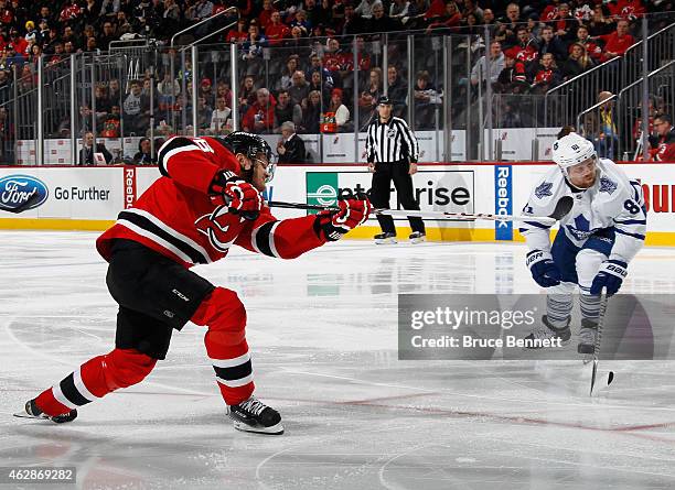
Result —
[{"label": "red jersey with black and white stripes on the shooting player", "polygon": [[162,177],[96,241],[104,259],[110,259],[115,239],[137,241],[186,268],[215,262],[233,244],[293,259],[326,242],[314,231],[315,216],[278,220],[265,206],[250,221],[214,205],[208,188],[216,173],[240,168],[213,138],[173,137],[159,150],[158,164]]}]

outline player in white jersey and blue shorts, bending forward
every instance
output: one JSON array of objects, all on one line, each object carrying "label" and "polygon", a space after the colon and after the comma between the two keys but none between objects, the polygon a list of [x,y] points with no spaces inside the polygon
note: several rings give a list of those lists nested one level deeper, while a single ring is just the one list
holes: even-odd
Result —
[{"label": "player in white jersey and blue shorts, bending forward", "polygon": [[574,198],[574,207],[560,219],[553,246],[550,225],[522,222],[529,249],[526,264],[548,293],[543,325],[527,338],[570,341],[572,293],[578,285],[578,352],[593,353],[601,291],[608,295],[619,291],[629,262],[644,243],[642,187],[611,160],[598,159],[593,144],[574,132],[554,143],[553,159],[557,167],[537,183],[523,214],[548,216],[565,196]]}]

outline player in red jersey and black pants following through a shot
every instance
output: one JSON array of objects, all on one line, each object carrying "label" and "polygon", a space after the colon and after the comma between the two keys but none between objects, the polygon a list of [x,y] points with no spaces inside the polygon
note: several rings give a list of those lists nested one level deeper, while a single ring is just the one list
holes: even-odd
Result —
[{"label": "player in red jersey and black pants following through a shot", "polygon": [[292,259],[363,224],[367,198],[340,211],[277,220],[260,192],[274,172],[261,138],[174,137],[158,155],[160,177],[96,243],[109,262],[106,282],[119,303],[113,351],[88,360],[25,404],[20,416],[71,422],[77,409],[141,382],[165,358],[171,334],[190,320],[207,328],[206,352],[236,428],[281,434],[281,417],[254,393],[246,311],[234,291],[189,269],[237,244]]}]

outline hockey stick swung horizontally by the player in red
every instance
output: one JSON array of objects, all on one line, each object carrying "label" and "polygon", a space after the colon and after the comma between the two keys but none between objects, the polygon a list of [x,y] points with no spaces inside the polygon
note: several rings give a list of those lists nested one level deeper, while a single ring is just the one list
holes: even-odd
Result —
[{"label": "hockey stick swung horizontally by the player in red", "polygon": [[[427,219],[457,219],[473,221],[475,219],[488,219],[491,221],[538,221],[546,225],[554,225],[558,219],[567,215],[572,208],[575,202],[571,197],[565,196],[560,198],[556,208],[549,216],[515,216],[515,215],[490,215],[486,213],[469,214],[469,213],[446,213],[446,211],[415,211],[405,209],[373,209],[375,215],[387,215],[393,217],[406,218],[408,216],[427,218]],[[280,200],[270,200],[267,203],[270,207],[288,208],[288,209],[309,209],[315,211],[339,211],[340,208],[333,206],[320,206],[315,204],[303,203],[283,203]]]}]

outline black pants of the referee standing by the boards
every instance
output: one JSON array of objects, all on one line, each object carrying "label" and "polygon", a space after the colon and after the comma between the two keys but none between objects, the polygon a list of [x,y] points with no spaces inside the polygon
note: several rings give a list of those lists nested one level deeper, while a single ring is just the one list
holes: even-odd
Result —
[{"label": "black pants of the referee standing by the boards", "polygon": [[[392,195],[392,181],[398,195],[398,202],[404,209],[419,210],[419,205],[415,200],[415,189],[413,188],[413,177],[408,174],[410,164],[407,160],[394,163],[376,163],[373,174],[373,186],[371,188],[371,203],[373,207],[389,209],[389,197]],[[377,221],[382,231],[395,233],[394,218],[390,216],[377,215]],[[408,217],[413,231],[425,232],[425,222],[421,218]]]}]

